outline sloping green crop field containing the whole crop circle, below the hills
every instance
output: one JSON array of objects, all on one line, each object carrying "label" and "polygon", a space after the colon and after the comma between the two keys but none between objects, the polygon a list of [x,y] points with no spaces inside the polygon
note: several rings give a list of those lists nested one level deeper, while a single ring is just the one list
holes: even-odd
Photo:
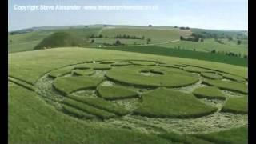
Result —
[{"label": "sloping green crop field containing the whole crop circle, below the hills", "polygon": [[247,142],[246,67],[78,47],[8,61],[10,142]]}]

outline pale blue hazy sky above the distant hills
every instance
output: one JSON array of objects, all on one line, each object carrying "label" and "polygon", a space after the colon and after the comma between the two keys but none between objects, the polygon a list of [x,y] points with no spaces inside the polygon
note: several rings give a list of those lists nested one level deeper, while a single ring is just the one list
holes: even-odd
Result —
[{"label": "pale blue hazy sky above the distant hills", "polygon": [[[144,10],[26,10],[22,6],[151,6]],[[55,8],[55,7],[54,7]],[[154,9],[153,9],[154,8]],[[247,0],[9,0],[8,30],[92,24],[248,30]]]}]

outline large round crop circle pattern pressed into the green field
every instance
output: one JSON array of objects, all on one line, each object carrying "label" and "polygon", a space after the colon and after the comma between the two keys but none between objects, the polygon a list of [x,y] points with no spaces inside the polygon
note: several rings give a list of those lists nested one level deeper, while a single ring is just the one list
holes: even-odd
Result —
[{"label": "large round crop circle pattern pressed into the green field", "polygon": [[[173,118],[207,122],[208,117],[225,117],[220,113],[222,107],[213,104],[219,102],[223,106],[225,97],[216,101],[211,98],[213,102],[209,102],[207,97],[193,94],[193,90],[206,86],[204,75],[215,73],[218,71],[196,66],[186,69],[186,64],[171,62],[90,61],[52,70],[36,86],[42,98],[71,117],[114,125],[157,121],[168,128],[167,123]],[[244,116],[232,117],[242,119],[238,125],[246,123]]]}]

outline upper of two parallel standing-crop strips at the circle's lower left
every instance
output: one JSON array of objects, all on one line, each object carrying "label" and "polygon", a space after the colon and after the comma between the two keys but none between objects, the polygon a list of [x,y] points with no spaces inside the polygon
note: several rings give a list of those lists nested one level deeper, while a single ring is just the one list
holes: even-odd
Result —
[{"label": "upper of two parallel standing-crop strips at the circle's lower left", "polygon": [[126,110],[124,107],[118,106],[118,104],[107,102],[102,98],[86,98],[78,96],[68,96],[68,98],[74,99],[78,102],[85,103],[86,105],[97,107],[98,109],[106,110],[110,113],[118,114],[120,116],[129,113],[129,111]]}]

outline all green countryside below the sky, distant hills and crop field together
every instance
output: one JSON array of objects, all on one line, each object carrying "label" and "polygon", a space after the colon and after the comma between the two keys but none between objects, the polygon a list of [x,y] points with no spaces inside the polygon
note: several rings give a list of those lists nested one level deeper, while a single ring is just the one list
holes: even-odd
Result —
[{"label": "all green countryside below the sky, distant hills and crop field together", "polygon": [[[248,142],[248,60],[242,58],[248,40],[236,43],[243,32],[116,25],[33,30],[8,35],[8,142]],[[233,40],[179,41],[192,33]],[[130,38],[115,38],[124,34]]]}]

